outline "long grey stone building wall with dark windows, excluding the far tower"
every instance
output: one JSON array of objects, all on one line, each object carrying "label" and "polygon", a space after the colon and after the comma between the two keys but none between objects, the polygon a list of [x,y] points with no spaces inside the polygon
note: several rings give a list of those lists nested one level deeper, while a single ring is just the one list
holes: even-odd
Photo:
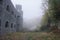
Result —
[{"label": "long grey stone building wall with dark windows, excluding the far tower", "polygon": [[[20,13],[11,0],[0,0],[0,34],[16,32],[20,28]],[[18,31],[20,31],[18,29]]]}]

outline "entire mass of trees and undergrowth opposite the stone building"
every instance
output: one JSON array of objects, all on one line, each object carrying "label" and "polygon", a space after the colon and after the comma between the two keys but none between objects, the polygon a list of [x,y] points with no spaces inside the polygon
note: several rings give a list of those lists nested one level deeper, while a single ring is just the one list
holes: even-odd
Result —
[{"label": "entire mass of trees and undergrowth opposite the stone building", "polygon": [[[48,9],[42,18],[40,30],[60,30],[60,0],[48,0]],[[56,31],[56,32],[57,32]]]}]

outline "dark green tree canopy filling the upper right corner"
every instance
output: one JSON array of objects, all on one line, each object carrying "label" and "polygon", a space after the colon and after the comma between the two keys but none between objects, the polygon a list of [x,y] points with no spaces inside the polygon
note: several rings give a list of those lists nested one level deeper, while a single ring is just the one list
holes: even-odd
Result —
[{"label": "dark green tree canopy filling the upper right corner", "polygon": [[60,20],[60,1],[59,0],[49,0],[48,4],[50,5],[48,7],[50,16],[52,15],[52,19],[55,21]]}]

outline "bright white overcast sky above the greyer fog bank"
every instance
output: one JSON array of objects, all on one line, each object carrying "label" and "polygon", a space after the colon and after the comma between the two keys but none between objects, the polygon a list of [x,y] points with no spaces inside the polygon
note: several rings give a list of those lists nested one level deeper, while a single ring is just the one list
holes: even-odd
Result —
[{"label": "bright white overcast sky above the greyer fog bank", "polygon": [[42,16],[42,0],[12,0],[12,2],[14,5],[22,5],[24,19]]}]

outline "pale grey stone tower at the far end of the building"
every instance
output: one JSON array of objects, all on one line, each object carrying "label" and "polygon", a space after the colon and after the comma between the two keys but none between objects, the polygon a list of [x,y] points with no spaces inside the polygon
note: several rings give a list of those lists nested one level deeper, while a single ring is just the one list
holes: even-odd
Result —
[{"label": "pale grey stone tower at the far end of the building", "polygon": [[20,24],[20,28],[19,29],[20,29],[20,31],[22,31],[23,30],[23,11],[22,11],[22,5],[16,5],[16,9],[20,13],[20,18],[19,18],[20,22],[18,20],[18,23]]}]

